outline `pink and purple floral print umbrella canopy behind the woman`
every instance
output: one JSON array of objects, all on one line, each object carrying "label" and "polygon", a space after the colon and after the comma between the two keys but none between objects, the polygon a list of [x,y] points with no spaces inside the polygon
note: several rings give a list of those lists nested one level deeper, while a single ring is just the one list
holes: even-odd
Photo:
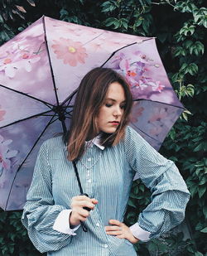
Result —
[{"label": "pink and purple floral print umbrella canopy behind the woman", "polygon": [[183,107],[154,38],[41,17],[0,47],[0,206],[21,210],[36,154],[70,125],[75,90],[94,67],[125,75],[135,100],[132,127],[156,150]]}]

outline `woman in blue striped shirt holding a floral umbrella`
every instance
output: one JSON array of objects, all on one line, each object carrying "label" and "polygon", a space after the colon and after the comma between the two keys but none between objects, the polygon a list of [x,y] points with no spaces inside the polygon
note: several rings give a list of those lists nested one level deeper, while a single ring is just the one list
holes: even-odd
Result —
[{"label": "woman in blue striped shirt holding a floral umbrella", "polygon": [[[84,76],[67,147],[62,138],[42,144],[27,194],[22,223],[39,251],[133,256],[132,244],[156,238],[184,219],[185,182],[173,162],[127,126],[131,108],[132,94],[121,75],[96,68]],[[74,162],[88,196],[79,196]],[[152,191],[152,202],[128,227],[123,216],[136,172]]]}]

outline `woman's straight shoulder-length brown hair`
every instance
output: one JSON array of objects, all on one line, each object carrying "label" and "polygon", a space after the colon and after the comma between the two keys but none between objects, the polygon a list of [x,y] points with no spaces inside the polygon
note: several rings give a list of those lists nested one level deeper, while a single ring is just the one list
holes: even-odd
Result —
[{"label": "woman's straight shoulder-length brown hair", "polygon": [[132,94],[122,75],[108,68],[90,70],[81,80],[75,99],[70,130],[66,136],[68,159],[74,161],[84,153],[84,143],[89,134],[99,133],[96,118],[107,94],[108,86],[118,82],[123,86],[126,105],[121,123],[115,133],[102,133],[100,142],[104,147],[116,145],[124,136],[132,109]]}]

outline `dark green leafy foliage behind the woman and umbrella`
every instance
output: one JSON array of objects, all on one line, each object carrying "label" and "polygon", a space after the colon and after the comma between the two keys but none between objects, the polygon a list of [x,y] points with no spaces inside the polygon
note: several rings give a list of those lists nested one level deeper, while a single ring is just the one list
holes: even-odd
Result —
[{"label": "dark green leafy foliage behind the woman and umbrella", "polygon": [[[156,36],[157,46],[185,112],[171,129],[161,153],[176,162],[190,190],[186,223],[190,239],[166,234],[136,244],[139,254],[206,255],[207,205],[207,8],[205,0],[2,0],[0,44],[8,41],[43,14],[66,22]],[[125,221],[132,225],[150,203],[150,191],[134,181]],[[21,212],[0,212],[0,255],[39,254],[22,227]]]}]

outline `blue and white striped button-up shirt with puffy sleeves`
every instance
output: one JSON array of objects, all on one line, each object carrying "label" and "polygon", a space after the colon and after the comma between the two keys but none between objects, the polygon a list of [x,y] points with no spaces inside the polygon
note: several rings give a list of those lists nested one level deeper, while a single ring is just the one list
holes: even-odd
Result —
[{"label": "blue and white striped button-up shirt with puffy sleeves", "polygon": [[[53,229],[60,213],[70,209],[71,198],[79,195],[74,167],[66,156],[62,138],[44,142],[27,193],[22,223],[41,253],[55,256],[137,255],[127,239],[108,235],[104,229],[108,220],[123,222],[136,173],[152,191],[152,202],[138,216],[135,227],[149,232],[150,238],[157,238],[184,219],[190,194],[175,164],[128,127],[125,138],[118,145],[102,150],[91,144],[77,163],[84,192],[99,200],[85,222],[89,231],[85,233],[79,228],[74,235]],[[131,230],[134,236],[139,235],[137,228],[132,226]]]}]

